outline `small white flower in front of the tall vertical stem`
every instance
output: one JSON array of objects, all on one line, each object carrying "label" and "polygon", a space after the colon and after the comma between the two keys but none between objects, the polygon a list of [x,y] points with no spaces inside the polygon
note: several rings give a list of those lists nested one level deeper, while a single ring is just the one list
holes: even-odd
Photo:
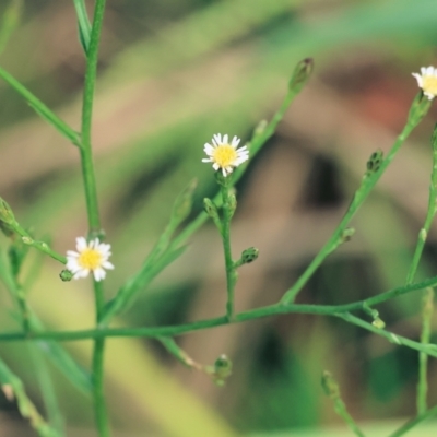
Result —
[{"label": "small white flower in front of the tall vertical stem", "polygon": [[102,281],[106,276],[104,269],[114,269],[114,265],[108,261],[110,257],[110,245],[99,243],[98,238],[86,243],[84,237],[75,239],[76,252],[73,250],[67,251],[67,269],[73,273],[73,279],[86,277],[90,272],[93,272],[96,281]]}]

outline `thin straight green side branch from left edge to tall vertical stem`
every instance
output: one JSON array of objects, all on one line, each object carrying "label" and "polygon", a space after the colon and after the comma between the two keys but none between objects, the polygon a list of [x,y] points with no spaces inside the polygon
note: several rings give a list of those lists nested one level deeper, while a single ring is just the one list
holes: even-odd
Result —
[{"label": "thin straight green side branch from left edge to tall vertical stem", "polygon": [[64,121],[62,121],[55,113],[49,109],[42,101],[39,101],[34,94],[32,94],[24,85],[22,85],[16,79],[9,74],[5,70],[0,67],[0,78],[4,80],[16,93],[19,93],[28,105],[51,126],[55,127],[63,137],[69,139],[74,145],[81,146],[81,140],[76,131],[70,128]]}]

